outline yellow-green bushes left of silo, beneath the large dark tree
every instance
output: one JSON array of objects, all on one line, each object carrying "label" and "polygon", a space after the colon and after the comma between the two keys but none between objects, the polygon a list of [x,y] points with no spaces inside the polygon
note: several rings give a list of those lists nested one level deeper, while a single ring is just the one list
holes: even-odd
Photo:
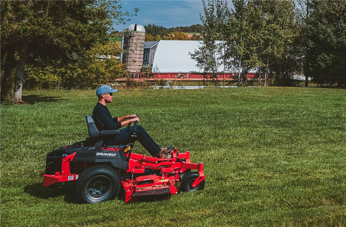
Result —
[{"label": "yellow-green bushes left of silo, beneath the large dark tree", "polygon": [[100,84],[115,83],[126,73],[120,62],[120,47],[117,42],[109,42],[91,47],[77,62],[61,64],[60,67],[43,64],[28,64],[25,68],[25,88],[94,88]]}]

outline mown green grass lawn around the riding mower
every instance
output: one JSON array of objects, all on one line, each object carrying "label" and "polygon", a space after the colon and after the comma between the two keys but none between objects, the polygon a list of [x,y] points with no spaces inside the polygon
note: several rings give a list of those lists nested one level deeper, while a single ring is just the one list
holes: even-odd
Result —
[{"label": "mown green grass lawn around the riding mower", "polygon": [[[26,91],[1,105],[1,226],[344,226],[346,90],[119,90],[162,146],[203,162],[206,187],[163,200],[76,204],[42,186],[45,156],[85,139],[93,90]],[[136,153],[148,154],[136,143]]]}]

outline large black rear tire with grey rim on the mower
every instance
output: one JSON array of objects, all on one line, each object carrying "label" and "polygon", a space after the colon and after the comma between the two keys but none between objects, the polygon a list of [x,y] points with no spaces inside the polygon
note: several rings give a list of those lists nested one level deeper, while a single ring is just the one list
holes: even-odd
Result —
[{"label": "large black rear tire with grey rim on the mower", "polygon": [[76,181],[76,198],[81,203],[98,203],[114,199],[120,191],[119,174],[107,165],[90,167]]}]

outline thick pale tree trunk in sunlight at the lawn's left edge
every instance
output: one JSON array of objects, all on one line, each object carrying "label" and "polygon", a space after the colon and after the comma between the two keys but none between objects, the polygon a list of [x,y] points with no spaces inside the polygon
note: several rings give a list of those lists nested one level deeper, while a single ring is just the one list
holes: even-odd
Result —
[{"label": "thick pale tree trunk in sunlight at the lawn's left edge", "polygon": [[28,53],[28,47],[23,46],[19,56],[17,75],[15,80],[15,89],[13,91],[13,101],[15,103],[22,102],[23,76],[24,76],[24,67],[25,67],[25,62],[27,58],[27,53]]}]

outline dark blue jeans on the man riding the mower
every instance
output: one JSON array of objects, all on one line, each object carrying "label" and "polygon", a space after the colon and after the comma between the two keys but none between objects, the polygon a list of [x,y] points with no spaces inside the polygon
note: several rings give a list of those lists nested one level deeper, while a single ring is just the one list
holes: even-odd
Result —
[{"label": "dark blue jeans on the man riding the mower", "polygon": [[140,144],[153,156],[156,156],[160,151],[160,146],[155,143],[153,138],[149,136],[147,131],[140,125],[136,126],[137,137],[131,137],[133,134],[134,126],[120,129],[120,134],[116,135],[114,140],[111,140],[107,145],[124,145],[139,141]]}]

